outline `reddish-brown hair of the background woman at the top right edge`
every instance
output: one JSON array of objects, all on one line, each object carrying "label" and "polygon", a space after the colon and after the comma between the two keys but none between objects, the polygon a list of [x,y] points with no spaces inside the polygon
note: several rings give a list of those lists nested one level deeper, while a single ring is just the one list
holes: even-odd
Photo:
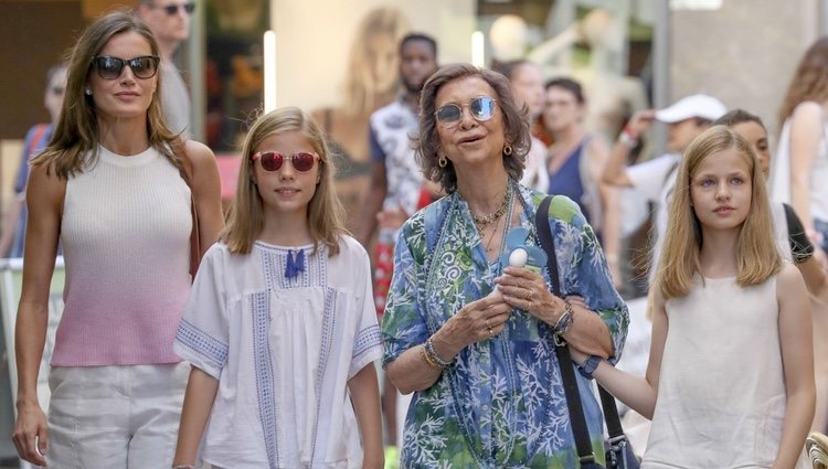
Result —
[{"label": "reddish-brown hair of the background woman at the top right edge", "polygon": [[779,129],[794,114],[796,106],[807,100],[819,104],[828,100],[828,36],[822,36],[811,44],[799,61],[785,93],[785,99],[782,100],[777,116]]}]

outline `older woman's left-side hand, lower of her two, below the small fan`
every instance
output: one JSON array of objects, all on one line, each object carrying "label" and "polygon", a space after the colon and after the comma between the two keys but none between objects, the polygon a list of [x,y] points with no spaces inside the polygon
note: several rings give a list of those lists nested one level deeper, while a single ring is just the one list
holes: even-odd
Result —
[{"label": "older woman's left-side hand, lower of her two, below the small fan", "polygon": [[435,334],[434,340],[450,345],[454,354],[465,347],[491,339],[506,328],[511,307],[498,292],[471,301],[452,317]]}]

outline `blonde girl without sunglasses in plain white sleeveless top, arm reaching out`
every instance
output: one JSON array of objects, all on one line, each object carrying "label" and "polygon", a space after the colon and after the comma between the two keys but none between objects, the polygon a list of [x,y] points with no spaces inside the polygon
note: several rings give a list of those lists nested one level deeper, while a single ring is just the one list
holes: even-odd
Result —
[{"label": "blonde girl without sunglasses in plain white sleeveless top, arm reaching out", "polygon": [[573,351],[652,419],[643,468],[802,466],[814,416],[808,295],[773,238],[764,177],[724,126],[681,160],[645,377]]}]

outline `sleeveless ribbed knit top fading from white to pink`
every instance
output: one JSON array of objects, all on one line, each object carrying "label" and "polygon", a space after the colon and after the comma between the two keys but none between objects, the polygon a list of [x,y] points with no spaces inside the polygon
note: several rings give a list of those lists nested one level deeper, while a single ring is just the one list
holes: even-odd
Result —
[{"label": "sleeveless ribbed knit top fading from white to pink", "polygon": [[96,163],[66,183],[64,310],[53,366],[176,363],[190,291],[190,189],[157,150]]}]

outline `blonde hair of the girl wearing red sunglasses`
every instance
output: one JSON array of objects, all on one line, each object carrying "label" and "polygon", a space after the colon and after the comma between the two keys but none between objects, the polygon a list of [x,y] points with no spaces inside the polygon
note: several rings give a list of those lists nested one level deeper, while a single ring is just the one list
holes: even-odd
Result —
[{"label": "blonde hair of the girl wearing red sunglasses", "polygon": [[339,236],[347,234],[344,212],[333,188],[333,159],[317,122],[297,107],[283,107],[259,116],[244,140],[242,162],[238,170],[236,193],[230,205],[224,230],[219,235],[234,254],[247,254],[264,226],[262,196],[253,182],[251,156],[266,138],[300,131],[319,154],[319,183],[308,206],[308,227],[315,251],[319,243],[326,245],[329,255],[339,254]]}]

